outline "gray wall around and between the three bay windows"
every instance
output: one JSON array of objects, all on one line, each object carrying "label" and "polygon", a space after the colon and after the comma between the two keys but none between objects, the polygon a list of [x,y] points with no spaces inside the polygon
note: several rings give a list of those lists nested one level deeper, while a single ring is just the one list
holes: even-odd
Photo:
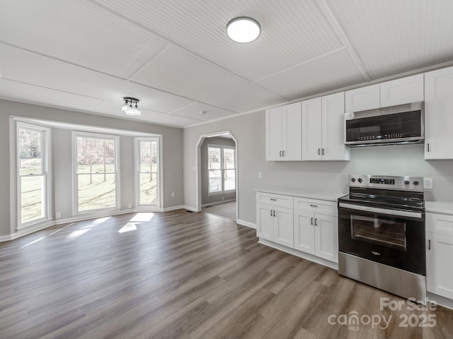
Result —
[{"label": "gray wall around and between the three bay windows", "polygon": [[[163,207],[183,205],[183,131],[182,129],[147,124],[127,119],[103,117],[94,114],[73,112],[64,109],[28,105],[19,102],[0,100],[0,157],[4,159],[0,167],[0,236],[13,232],[10,227],[10,149],[9,149],[9,116],[27,117],[48,121],[60,121],[85,126],[98,126],[110,129],[122,129],[162,135],[163,145]],[[121,208],[133,201],[132,171],[133,139],[130,136],[120,137],[120,183]],[[7,159],[8,161],[5,161]],[[53,185],[55,208],[62,212],[62,218],[70,218],[72,213],[72,165],[71,165],[71,131],[52,129],[52,170],[55,175]],[[174,198],[171,192],[176,192]]]}]

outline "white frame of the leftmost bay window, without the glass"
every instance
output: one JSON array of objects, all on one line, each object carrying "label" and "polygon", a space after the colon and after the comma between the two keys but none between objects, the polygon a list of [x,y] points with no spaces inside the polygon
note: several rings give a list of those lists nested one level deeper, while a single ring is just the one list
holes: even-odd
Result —
[{"label": "white frame of the leftmost bay window, without the glass", "polygon": [[[21,186],[21,158],[20,158],[20,147],[21,143],[19,139],[19,129],[28,129],[30,131],[38,131],[41,133],[41,173],[40,176],[44,179],[44,184],[42,185],[44,192],[42,196],[45,198],[45,201],[41,201],[43,204],[42,211],[43,216],[41,218],[30,220],[28,222],[22,222],[22,186]],[[16,230],[21,230],[22,228],[29,227],[32,225],[40,224],[47,220],[50,220],[52,215],[51,206],[52,203],[52,172],[51,172],[51,152],[50,152],[50,138],[51,133],[50,129],[41,126],[38,124],[29,124],[23,121],[16,121]]]}]

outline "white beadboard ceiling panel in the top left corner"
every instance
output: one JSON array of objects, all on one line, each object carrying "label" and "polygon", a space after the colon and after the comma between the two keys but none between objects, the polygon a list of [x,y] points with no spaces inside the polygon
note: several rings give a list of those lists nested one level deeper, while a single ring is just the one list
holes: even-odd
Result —
[{"label": "white beadboard ceiling panel in the top left corner", "polygon": [[120,78],[129,77],[166,45],[81,0],[1,1],[0,22],[0,42]]}]

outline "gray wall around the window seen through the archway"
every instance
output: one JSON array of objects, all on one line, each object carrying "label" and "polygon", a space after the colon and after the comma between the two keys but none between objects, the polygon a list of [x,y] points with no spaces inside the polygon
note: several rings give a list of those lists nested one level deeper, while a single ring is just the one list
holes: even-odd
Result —
[{"label": "gray wall around the window seen through the archway", "polygon": [[[236,198],[236,192],[228,194],[208,194],[209,177],[207,168],[207,145],[220,145],[234,147],[233,139],[227,138],[205,138],[205,141],[201,145],[201,203],[203,205],[207,203],[217,203],[219,201],[226,201]],[[223,198],[223,199],[222,199]]]}]

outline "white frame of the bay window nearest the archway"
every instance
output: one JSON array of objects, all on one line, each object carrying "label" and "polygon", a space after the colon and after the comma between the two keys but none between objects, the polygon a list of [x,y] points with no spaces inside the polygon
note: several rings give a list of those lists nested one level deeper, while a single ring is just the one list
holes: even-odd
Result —
[{"label": "white frame of the bay window nearest the archway", "polygon": [[[157,141],[157,203],[147,204],[140,203],[140,142],[142,141]],[[134,207],[139,209],[162,208],[163,189],[162,189],[162,136],[136,136],[134,137]]]}]

